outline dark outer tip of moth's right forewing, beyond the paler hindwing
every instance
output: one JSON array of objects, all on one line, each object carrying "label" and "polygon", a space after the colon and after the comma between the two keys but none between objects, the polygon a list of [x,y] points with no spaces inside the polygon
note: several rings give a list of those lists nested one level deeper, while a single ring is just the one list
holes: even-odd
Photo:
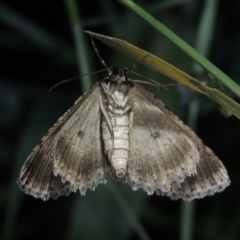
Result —
[{"label": "dark outer tip of moth's right forewing, beyond the paler hindwing", "polygon": [[183,182],[172,182],[171,191],[156,191],[157,195],[168,196],[174,200],[192,200],[223,191],[230,180],[222,162],[206,146],[200,148],[201,159],[197,164],[197,175],[185,178]]}]

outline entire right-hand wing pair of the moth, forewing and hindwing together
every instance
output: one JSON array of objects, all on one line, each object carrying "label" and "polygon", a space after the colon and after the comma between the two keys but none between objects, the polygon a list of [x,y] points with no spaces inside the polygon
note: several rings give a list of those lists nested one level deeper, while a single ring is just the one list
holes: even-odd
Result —
[{"label": "entire right-hand wing pair of the moth, forewing and hindwing together", "polygon": [[192,199],[229,185],[226,169],[214,153],[164,104],[138,84],[134,99],[127,180],[173,199]]}]

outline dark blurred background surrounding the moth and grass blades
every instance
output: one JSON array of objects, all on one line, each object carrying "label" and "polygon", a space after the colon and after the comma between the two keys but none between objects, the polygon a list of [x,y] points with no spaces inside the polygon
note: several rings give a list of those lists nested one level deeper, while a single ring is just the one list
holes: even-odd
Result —
[{"label": "dark blurred background surrounding the moth and grass blades", "polygon": [[[158,8],[162,2],[137,1],[195,46],[205,1]],[[218,1],[216,11],[207,57],[239,83],[240,2]],[[78,1],[78,12],[84,30],[126,40],[199,77],[189,57],[117,1]],[[89,71],[102,69],[86,34],[84,40]],[[95,43],[108,65],[128,67],[134,63],[97,40]],[[127,184],[111,181],[86,196],[73,193],[47,202],[20,192],[16,180],[26,157],[83,92],[82,78],[48,92],[54,84],[85,73],[78,71],[75,53],[67,1],[1,1],[0,239],[179,239],[186,204],[147,196],[141,190],[133,192]],[[160,74],[140,65],[135,71],[166,82]],[[102,76],[91,79],[94,82]],[[229,93],[218,82],[211,84]],[[223,161],[232,181],[224,192],[193,201],[193,239],[240,239],[238,119],[227,118],[212,100],[181,86],[160,90],[158,95],[184,121],[191,114],[189,103],[198,101],[196,131]]]}]

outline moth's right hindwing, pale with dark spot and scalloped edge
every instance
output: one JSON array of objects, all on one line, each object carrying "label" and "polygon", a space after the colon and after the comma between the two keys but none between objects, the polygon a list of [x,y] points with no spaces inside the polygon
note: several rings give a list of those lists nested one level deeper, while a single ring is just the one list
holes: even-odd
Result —
[{"label": "moth's right hindwing, pale with dark spot and scalloped edge", "polygon": [[147,192],[168,191],[173,180],[183,181],[196,173],[199,152],[192,139],[151,102],[153,96],[140,85],[134,86],[129,93],[134,98],[129,178]]}]

